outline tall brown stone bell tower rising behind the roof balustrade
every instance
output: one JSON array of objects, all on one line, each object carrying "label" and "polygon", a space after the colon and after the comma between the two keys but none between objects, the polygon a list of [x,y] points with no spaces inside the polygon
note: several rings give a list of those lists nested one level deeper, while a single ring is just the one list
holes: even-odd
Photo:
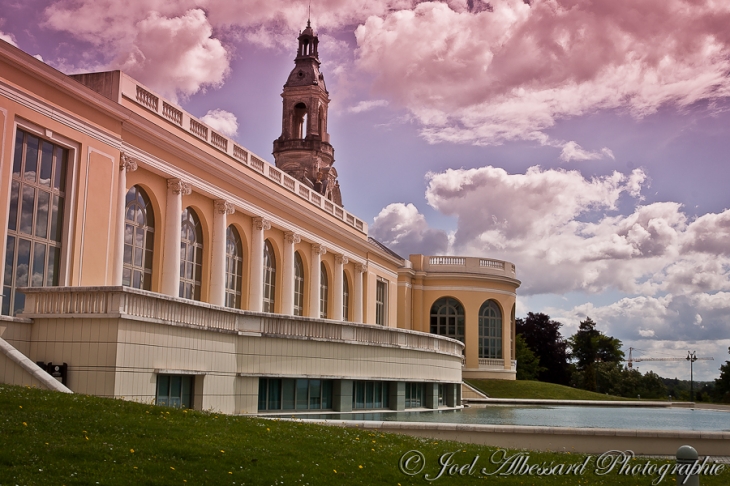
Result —
[{"label": "tall brown stone bell tower rising behind the roof balustrade", "polygon": [[274,140],[276,166],[325,198],[342,205],[335,149],[327,133],[329,92],[319,71],[319,39],[310,21],[299,34],[294,69],[284,84],[281,136]]}]

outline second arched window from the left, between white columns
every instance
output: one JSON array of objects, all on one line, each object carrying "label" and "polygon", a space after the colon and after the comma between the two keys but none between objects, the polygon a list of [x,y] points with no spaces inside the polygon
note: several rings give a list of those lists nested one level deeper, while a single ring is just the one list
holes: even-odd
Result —
[{"label": "second arched window from the left, between white columns", "polygon": [[203,228],[192,208],[182,213],[180,229],[180,297],[200,300],[203,275]]}]

